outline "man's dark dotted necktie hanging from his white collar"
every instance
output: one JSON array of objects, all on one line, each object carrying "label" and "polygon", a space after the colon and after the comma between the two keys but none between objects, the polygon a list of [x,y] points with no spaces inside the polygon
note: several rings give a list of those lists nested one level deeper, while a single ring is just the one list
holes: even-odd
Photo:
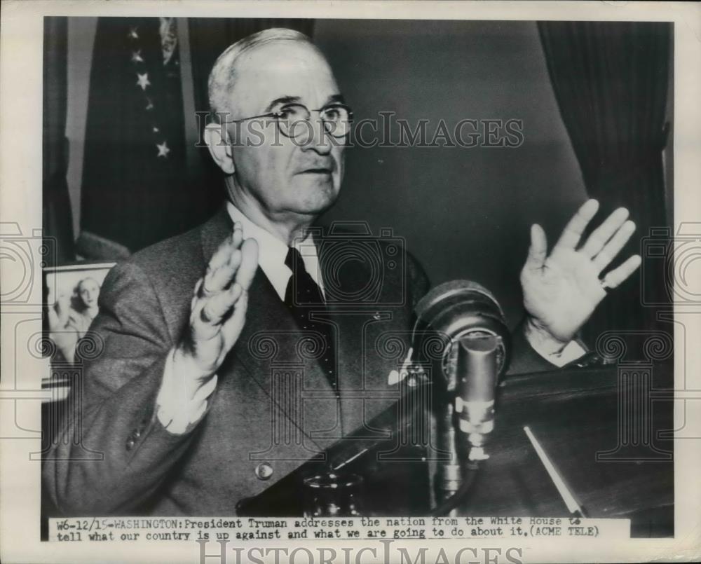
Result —
[{"label": "man's dark dotted necktie hanging from his white collar", "polygon": [[295,322],[302,331],[316,331],[321,333],[326,341],[325,351],[319,358],[319,364],[329,380],[329,384],[338,394],[336,385],[336,353],[334,348],[334,333],[329,323],[310,319],[310,313],[326,312],[326,303],[314,279],[304,267],[304,261],[297,249],[290,247],[287,250],[285,265],[292,270],[292,276],[287,282],[285,290],[285,305],[290,308]]}]

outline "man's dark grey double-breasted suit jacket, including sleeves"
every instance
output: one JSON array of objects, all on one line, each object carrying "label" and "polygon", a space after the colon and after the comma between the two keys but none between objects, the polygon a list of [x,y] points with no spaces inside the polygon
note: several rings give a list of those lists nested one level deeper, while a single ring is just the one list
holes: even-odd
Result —
[{"label": "man's dark grey double-breasted suit jacket, including sleeves", "polygon": [[[217,372],[205,417],[185,434],[163,428],[155,403],[165,359],[189,322],[197,280],[230,232],[222,209],[105,279],[91,327],[99,350],[72,392],[76,417],[43,464],[44,488],[63,514],[236,514],[242,497],[319,458],[396,401],[388,374],[406,356],[428,280],[394,242],[367,238],[357,248],[387,259],[379,270],[372,260],[343,268],[333,245],[330,260],[320,251],[334,268],[324,280],[336,296],[326,321],[336,340],[338,397],[318,364],[315,334],[300,331],[258,268],[243,333]],[[517,371],[552,367],[519,332],[514,351]]]}]

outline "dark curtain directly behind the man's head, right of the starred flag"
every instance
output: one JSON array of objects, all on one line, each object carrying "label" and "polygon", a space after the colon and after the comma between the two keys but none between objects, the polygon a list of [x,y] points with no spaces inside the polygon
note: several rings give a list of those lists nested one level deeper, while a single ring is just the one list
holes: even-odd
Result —
[{"label": "dark curtain directly behind the man's head, right of the starred flag", "polygon": [[[207,78],[217,57],[232,43],[271,27],[296,29],[310,37],[314,29],[314,20],[294,18],[189,18],[188,22],[195,111],[209,111]],[[202,120],[199,125],[200,129],[203,128],[205,121]],[[206,147],[198,148],[198,158],[193,161],[196,167],[193,174],[203,179],[205,185],[222,185],[222,172]]]}]

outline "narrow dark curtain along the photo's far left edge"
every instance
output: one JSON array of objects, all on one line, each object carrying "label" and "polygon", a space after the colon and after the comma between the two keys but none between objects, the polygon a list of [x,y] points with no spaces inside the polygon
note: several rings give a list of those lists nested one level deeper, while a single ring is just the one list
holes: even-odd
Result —
[{"label": "narrow dark curtain along the photo's far left edge", "polygon": [[75,259],[73,219],[68,195],[66,139],[68,19],[44,18],[43,41],[43,233],[47,266]]}]

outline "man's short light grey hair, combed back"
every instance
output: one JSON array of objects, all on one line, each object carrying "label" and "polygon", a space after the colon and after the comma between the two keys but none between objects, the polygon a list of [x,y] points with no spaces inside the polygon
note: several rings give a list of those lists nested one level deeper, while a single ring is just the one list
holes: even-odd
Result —
[{"label": "man's short light grey hair, combed back", "polygon": [[218,113],[231,111],[229,104],[231,103],[233,85],[236,83],[236,61],[238,57],[274,41],[296,41],[313,46],[311,39],[301,32],[284,27],[273,27],[246,36],[226,48],[224,53],[217,57],[207,83],[210,110],[214,114],[212,116],[214,121],[219,121]]}]

